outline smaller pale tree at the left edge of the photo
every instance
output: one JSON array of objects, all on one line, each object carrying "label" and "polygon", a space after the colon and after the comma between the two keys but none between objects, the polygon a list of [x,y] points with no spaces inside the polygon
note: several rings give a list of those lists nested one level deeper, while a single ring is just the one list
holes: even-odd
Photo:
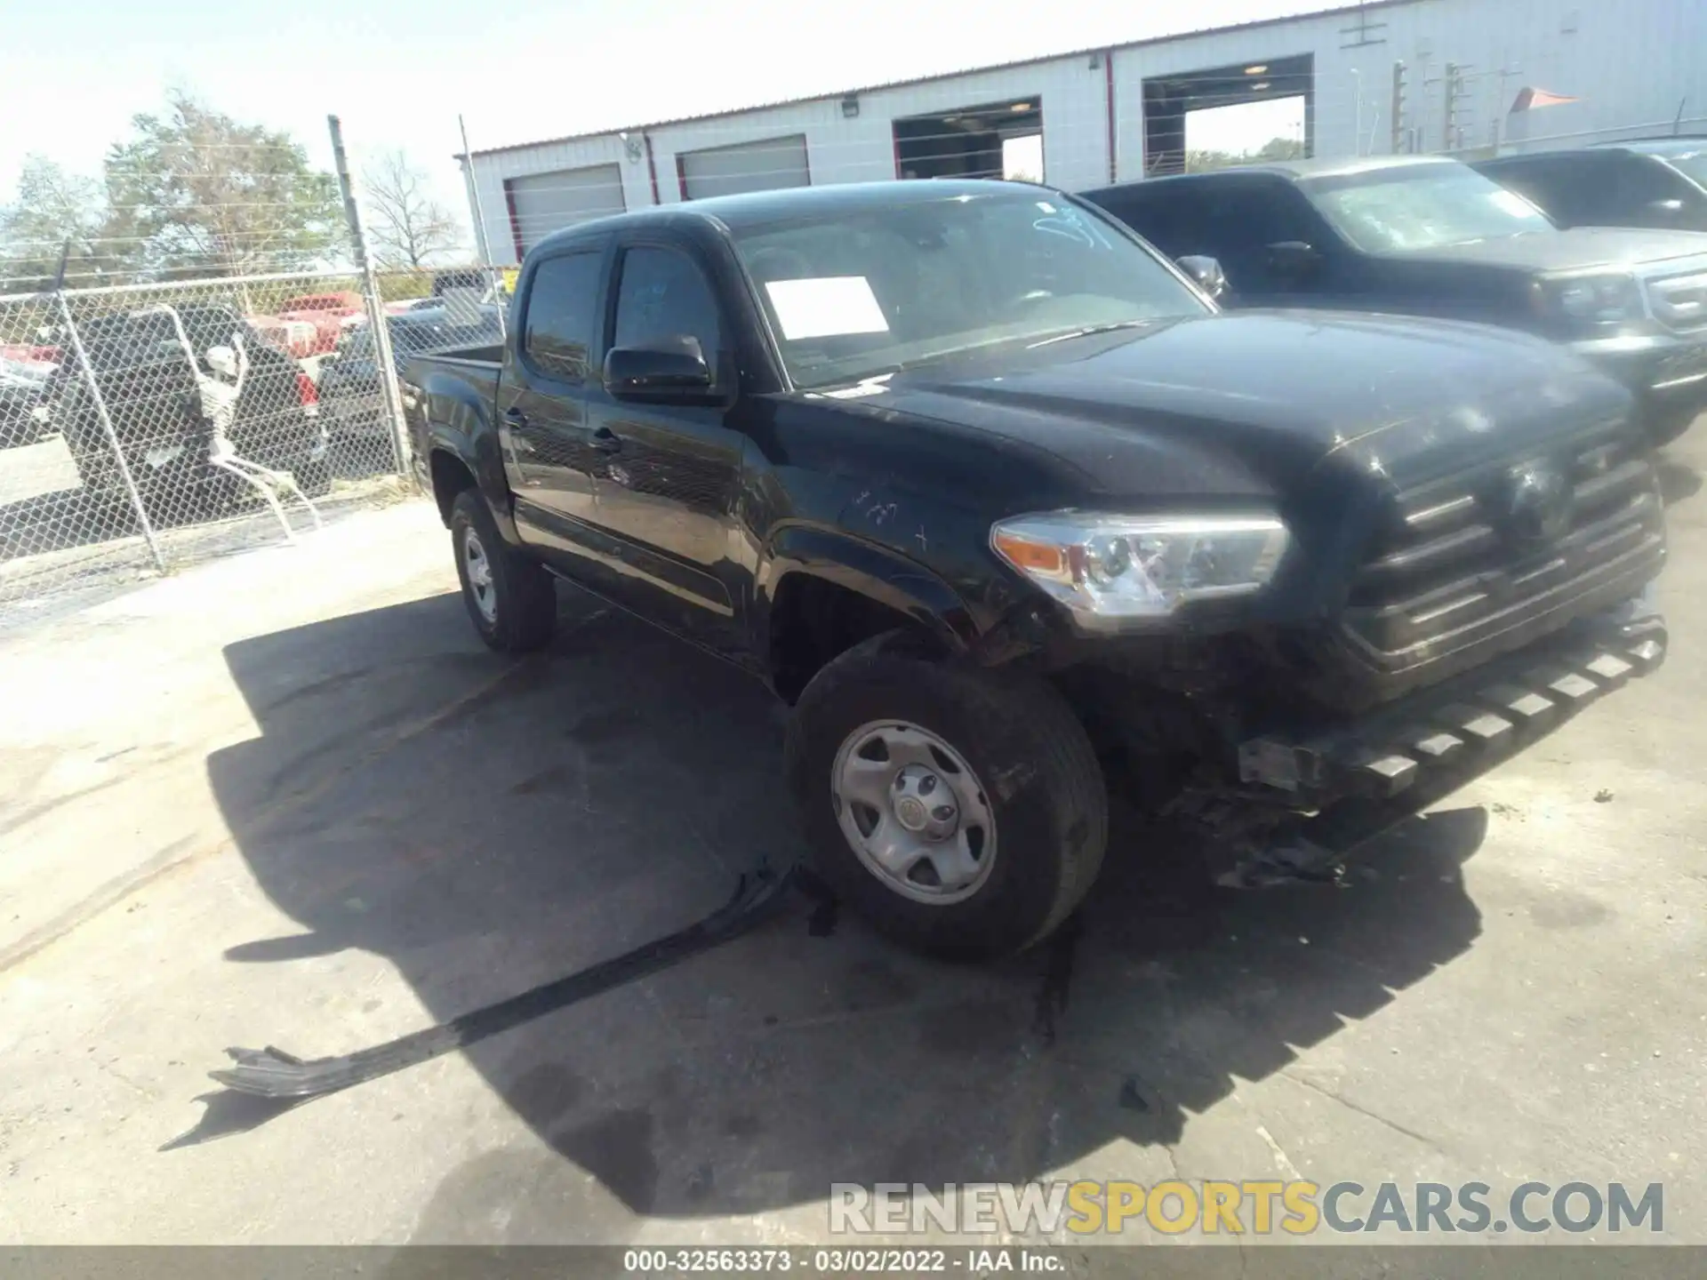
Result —
[{"label": "smaller pale tree at the left edge of the photo", "polygon": [[0,280],[19,292],[50,288],[65,253],[68,282],[113,283],[126,246],[108,239],[109,222],[97,181],[41,155],[27,157],[17,198],[0,208]]}]

